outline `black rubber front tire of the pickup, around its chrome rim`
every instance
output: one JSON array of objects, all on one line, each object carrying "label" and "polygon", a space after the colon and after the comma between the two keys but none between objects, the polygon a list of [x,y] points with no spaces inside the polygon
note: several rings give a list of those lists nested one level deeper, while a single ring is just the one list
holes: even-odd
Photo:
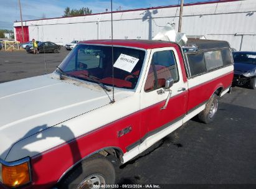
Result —
[{"label": "black rubber front tire of the pickup, around its chrome rim", "polygon": [[[83,183],[85,178],[103,177],[105,184],[115,184],[115,167],[102,155],[93,155],[75,167],[67,177],[60,182],[59,187],[64,189],[74,189]],[[100,184],[100,183],[98,183]],[[82,188],[93,188],[93,185],[85,185]]]}]

